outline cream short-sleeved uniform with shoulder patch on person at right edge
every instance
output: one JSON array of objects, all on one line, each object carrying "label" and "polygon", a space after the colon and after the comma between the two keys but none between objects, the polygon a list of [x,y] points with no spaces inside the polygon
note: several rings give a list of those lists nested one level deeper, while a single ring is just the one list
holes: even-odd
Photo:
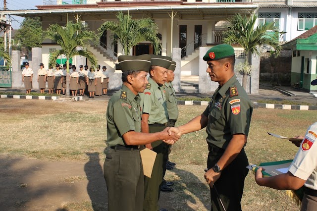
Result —
[{"label": "cream short-sleeved uniform with shoulder patch on person at right edge", "polygon": [[317,122],[312,124],[288,171],[306,180],[301,211],[316,211],[317,208]]}]

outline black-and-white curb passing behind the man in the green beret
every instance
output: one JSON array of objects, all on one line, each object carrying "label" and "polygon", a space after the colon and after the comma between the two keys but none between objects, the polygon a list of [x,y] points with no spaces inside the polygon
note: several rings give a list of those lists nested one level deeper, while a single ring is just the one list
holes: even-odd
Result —
[{"label": "black-and-white curb passing behind the man in the green beret", "polygon": [[[178,101],[178,105],[185,106],[208,106],[208,101]],[[262,104],[253,102],[254,108],[271,108],[271,109],[284,109],[284,110],[317,110],[317,106],[301,106],[301,105],[277,105],[277,104]]]}]

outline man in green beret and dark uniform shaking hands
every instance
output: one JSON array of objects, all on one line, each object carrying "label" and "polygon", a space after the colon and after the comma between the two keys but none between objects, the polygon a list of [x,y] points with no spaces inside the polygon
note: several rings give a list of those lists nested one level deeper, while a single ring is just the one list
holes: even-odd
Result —
[{"label": "man in green beret and dark uniform shaking hands", "polygon": [[235,55],[226,44],[212,47],[204,56],[211,81],[218,82],[206,110],[173,129],[179,135],[206,127],[209,155],[205,179],[211,188],[211,210],[241,211],[248,158],[247,144],[253,105],[234,74]]}]

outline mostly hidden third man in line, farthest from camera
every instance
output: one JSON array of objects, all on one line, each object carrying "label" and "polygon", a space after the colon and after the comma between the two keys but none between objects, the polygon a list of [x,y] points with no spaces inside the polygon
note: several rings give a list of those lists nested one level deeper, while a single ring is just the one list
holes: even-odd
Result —
[{"label": "mostly hidden third man in line, farthest from camera", "polygon": [[[164,89],[165,89],[165,98],[166,98],[166,103],[167,103],[167,113],[168,113],[168,122],[167,126],[168,127],[174,127],[175,123],[178,118],[178,107],[177,107],[177,99],[175,96],[175,90],[172,85],[172,81],[175,78],[175,71],[176,68],[176,62],[172,61],[170,64],[168,70],[167,70],[167,78],[166,82],[164,84]],[[174,189],[172,188],[173,182],[166,182],[164,179],[166,169],[173,169],[173,166],[175,165],[174,162],[170,162],[168,160],[168,155],[171,152],[171,146],[170,145],[165,145],[164,152],[163,152],[163,179],[162,179],[162,184],[160,187],[160,190],[163,192],[171,192]]]}]

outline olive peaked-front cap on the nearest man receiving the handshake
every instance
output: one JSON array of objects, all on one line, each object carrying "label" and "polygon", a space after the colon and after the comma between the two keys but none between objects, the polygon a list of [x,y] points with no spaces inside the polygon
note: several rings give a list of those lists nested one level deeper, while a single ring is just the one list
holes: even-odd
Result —
[{"label": "olive peaked-front cap on the nearest man receiving the handshake", "polygon": [[118,57],[119,65],[122,72],[129,70],[140,70],[149,72],[151,66],[151,56],[149,54],[143,55],[120,55]]}]

